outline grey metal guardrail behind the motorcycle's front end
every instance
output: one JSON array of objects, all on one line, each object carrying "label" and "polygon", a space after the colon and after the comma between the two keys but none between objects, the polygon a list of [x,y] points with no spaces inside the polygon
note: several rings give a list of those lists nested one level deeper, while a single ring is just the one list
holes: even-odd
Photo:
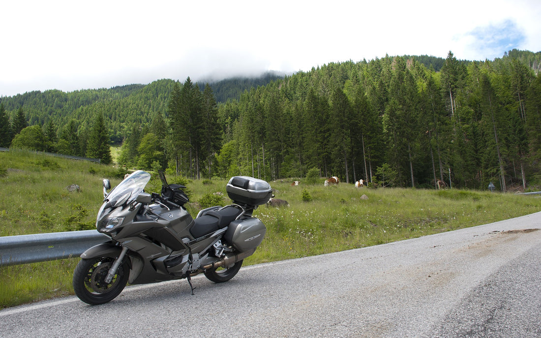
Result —
[{"label": "grey metal guardrail behind the motorcycle's front end", "polygon": [[67,259],[110,238],[97,230],[0,237],[0,266]]}]

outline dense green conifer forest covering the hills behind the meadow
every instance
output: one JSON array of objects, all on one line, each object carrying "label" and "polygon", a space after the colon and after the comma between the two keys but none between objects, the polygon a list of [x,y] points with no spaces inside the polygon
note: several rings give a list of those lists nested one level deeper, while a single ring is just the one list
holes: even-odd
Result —
[{"label": "dense green conifer forest covering the hills behind the meadow", "polygon": [[[385,56],[293,75],[0,97],[0,147],[273,181],[541,187],[541,52],[493,61]],[[1,165],[1,164],[0,164]]]}]

